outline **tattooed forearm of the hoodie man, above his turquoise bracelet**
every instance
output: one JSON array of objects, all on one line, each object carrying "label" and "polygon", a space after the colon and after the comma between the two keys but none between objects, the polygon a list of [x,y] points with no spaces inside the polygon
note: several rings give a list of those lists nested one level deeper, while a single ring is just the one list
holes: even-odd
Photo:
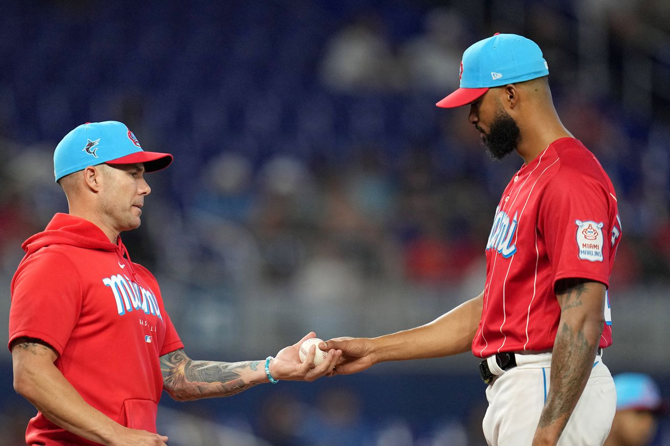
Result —
[{"label": "tattooed forearm of the hoodie man, above his turquoise bracelet", "polygon": [[257,370],[259,361],[194,361],[184,350],[161,356],[163,387],[177,400],[230,396],[258,382],[245,380],[244,370]]}]

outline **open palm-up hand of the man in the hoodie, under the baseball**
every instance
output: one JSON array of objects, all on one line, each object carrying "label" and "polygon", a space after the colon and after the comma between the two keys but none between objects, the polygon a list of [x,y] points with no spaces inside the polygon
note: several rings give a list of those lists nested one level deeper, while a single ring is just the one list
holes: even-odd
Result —
[{"label": "open palm-up hand of the man in the hoodie, under the baseball", "polygon": [[300,344],[312,338],[316,338],[314,331],[292,346],[279,350],[275,359],[270,362],[270,374],[273,378],[289,381],[314,381],[316,378],[332,372],[340,356],[342,356],[342,350],[334,348],[330,350],[323,349],[324,352],[327,352],[326,359],[318,366],[310,368],[310,364],[314,362],[314,355],[316,354],[316,347],[312,346],[305,362],[300,361]]}]

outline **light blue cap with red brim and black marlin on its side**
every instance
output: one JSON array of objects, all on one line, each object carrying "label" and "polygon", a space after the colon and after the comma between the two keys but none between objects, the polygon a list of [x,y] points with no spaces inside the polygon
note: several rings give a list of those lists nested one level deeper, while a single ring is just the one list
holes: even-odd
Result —
[{"label": "light blue cap with red brim and black marlin on its side", "polygon": [[65,135],[54,151],[56,181],[89,165],[144,163],[147,172],[165,169],[170,153],[146,152],[125,124],[86,123]]}]

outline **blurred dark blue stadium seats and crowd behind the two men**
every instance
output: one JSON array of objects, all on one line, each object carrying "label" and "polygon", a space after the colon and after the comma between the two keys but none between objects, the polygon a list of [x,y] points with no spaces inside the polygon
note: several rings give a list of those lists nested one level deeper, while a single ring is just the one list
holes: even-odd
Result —
[{"label": "blurred dark blue stadium seats and crowd behind the two men", "polygon": [[[265,358],[310,330],[377,336],[477,295],[495,204],[522,161],[488,160],[466,108],[433,104],[457,86],[465,48],[513,32],[543,49],[563,123],[618,191],[606,363],[653,374],[667,397],[669,17],[661,0],[3,1],[5,333],[21,242],[67,211],[53,149],[86,121],[123,121],[175,156],[149,175],[143,225],[123,240],[193,358]],[[34,408],[13,391],[8,352],[0,377],[0,445],[19,445]],[[473,446],[484,407],[468,354],[165,396],[159,431],[173,446]]]}]

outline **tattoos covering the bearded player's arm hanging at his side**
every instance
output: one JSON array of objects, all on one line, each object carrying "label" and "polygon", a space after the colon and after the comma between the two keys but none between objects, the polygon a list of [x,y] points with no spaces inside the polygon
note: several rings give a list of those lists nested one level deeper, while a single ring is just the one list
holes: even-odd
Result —
[{"label": "tattoos covering the bearded player's arm hanging at his side", "polygon": [[553,347],[549,395],[538,427],[548,427],[558,422],[559,435],[586,386],[602,333],[602,323],[600,331],[586,331],[584,324],[574,323],[569,317],[564,317],[566,312],[584,305],[582,297],[594,297],[596,290],[593,287],[596,285],[587,282],[584,279],[566,279],[556,289],[561,305],[561,325]]}]

